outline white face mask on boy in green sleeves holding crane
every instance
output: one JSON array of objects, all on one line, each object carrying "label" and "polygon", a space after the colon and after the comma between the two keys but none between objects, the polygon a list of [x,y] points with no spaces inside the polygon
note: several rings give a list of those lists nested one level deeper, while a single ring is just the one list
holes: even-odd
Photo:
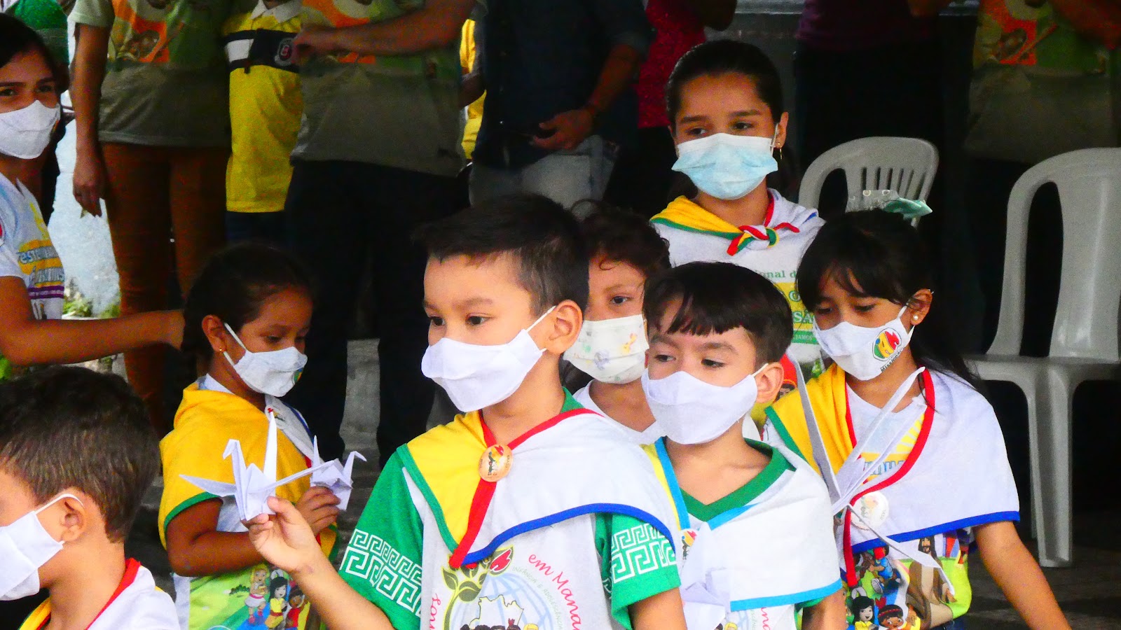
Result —
[{"label": "white face mask on boy in green sleeves holding crane", "polygon": [[461,411],[476,411],[501,402],[521,387],[526,374],[545,353],[534,343],[529,331],[553,308],[508,343],[476,345],[444,337],[425,351],[420,371],[444,388]]}]

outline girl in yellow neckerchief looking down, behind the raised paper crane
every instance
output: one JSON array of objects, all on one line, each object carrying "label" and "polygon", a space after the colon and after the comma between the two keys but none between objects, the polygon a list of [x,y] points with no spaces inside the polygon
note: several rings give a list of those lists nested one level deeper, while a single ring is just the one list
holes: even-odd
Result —
[{"label": "girl in yellow neckerchief looking down, behind the raised paper crane", "polygon": [[[265,624],[285,610],[290,576],[266,563],[245,534],[232,499],[201,492],[180,475],[231,483],[222,453],[241,442],[247,464],[265,460],[269,421],[277,420],[277,479],[308,467],[312,435],[298,411],[280,401],[307,359],[304,337],[312,319],[311,280],[288,253],[257,243],[215,254],[184,306],[185,346],[205,376],[183,392],[175,428],[160,443],[164,495],[159,534],[175,572],[176,605],[184,629]],[[339,499],[302,478],[277,489],[296,503],[328,554],[334,546]],[[308,608],[297,614],[307,623]],[[262,626],[263,627],[263,626]]]}]

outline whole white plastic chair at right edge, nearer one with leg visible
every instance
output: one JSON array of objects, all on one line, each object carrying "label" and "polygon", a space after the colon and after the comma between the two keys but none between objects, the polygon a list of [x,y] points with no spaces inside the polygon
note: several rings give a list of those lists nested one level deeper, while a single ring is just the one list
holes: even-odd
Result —
[{"label": "whole white plastic chair at right edge, nearer one with leg visible", "polygon": [[[1058,187],[1063,269],[1047,358],[1020,356],[1028,212],[1039,187]],[[1121,376],[1121,149],[1085,149],[1050,158],[1020,177],[1008,200],[1008,242],[997,336],[972,358],[984,380],[1009,381],[1028,401],[1032,528],[1039,564],[1068,566],[1071,407],[1087,380]]]}]

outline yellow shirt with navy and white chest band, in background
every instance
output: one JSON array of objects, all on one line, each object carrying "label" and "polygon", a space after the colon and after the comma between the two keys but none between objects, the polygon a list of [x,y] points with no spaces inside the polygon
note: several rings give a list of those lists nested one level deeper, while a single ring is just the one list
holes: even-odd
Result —
[{"label": "yellow shirt with navy and white chest band, in background", "polygon": [[304,113],[293,39],[299,33],[299,0],[238,13],[222,27],[230,68],[230,164],[225,172],[230,212],[279,212],[288,194]]}]

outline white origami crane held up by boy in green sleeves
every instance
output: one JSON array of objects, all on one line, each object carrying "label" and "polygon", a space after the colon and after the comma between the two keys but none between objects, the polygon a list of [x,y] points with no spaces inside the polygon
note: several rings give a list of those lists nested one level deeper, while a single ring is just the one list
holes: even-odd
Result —
[{"label": "white origami crane held up by boy in green sleeves", "polygon": [[[238,513],[241,520],[249,520],[257,515],[276,513],[269,509],[268,498],[276,494],[277,488],[302,476],[326,470],[332,465],[339,465],[337,460],[327,463],[318,462],[318,454],[316,453],[317,465],[277,481],[277,419],[272,409],[268,409],[266,415],[269,418],[269,436],[268,442],[265,444],[263,467],[258,469],[257,464],[249,464],[247,466],[245,457],[241,453],[241,442],[231,439],[225,445],[225,452],[222,454],[222,457],[233,457],[233,483],[200,479],[185,474],[179,475],[211,494],[233,497],[234,502],[238,504]],[[350,469],[348,467],[349,471]],[[346,480],[350,480],[349,474]]]}]

